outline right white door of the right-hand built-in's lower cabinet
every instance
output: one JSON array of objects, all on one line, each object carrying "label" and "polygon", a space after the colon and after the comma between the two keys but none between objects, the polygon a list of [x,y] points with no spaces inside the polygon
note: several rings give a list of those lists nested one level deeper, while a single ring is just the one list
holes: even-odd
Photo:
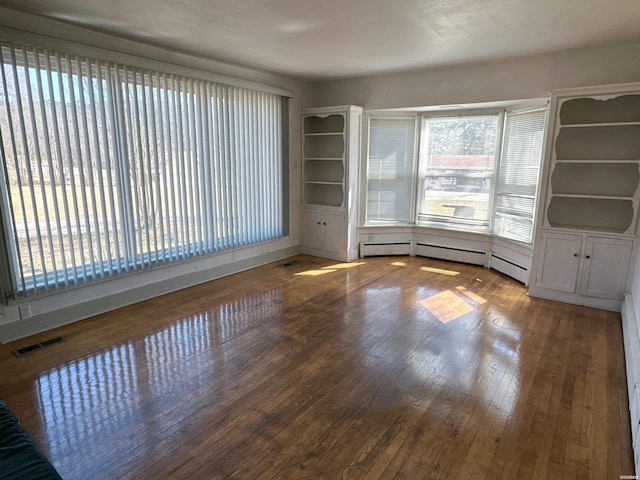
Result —
[{"label": "right white door of the right-hand built-in's lower cabinet", "polygon": [[587,237],[580,294],[622,299],[631,261],[631,240]]}]

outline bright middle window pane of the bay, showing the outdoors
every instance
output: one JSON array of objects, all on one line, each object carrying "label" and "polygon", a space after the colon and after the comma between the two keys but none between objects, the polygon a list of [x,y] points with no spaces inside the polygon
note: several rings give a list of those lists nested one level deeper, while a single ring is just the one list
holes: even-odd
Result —
[{"label": "bright middle window pane of the bay, showing the outdoors", "polygon": [[425,121],[418,220],[487,231],[499,115]]}]

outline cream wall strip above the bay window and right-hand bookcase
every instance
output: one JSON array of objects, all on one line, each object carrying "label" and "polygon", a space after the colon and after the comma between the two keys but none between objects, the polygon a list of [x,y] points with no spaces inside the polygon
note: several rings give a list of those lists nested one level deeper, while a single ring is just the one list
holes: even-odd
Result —
[{"label": "cream wall strip above the bay window and right-hand bookcase", "polygon": [[313,106],[365,109],[545,97],[549,90],[640,80],[640,44],[318,82]]}]

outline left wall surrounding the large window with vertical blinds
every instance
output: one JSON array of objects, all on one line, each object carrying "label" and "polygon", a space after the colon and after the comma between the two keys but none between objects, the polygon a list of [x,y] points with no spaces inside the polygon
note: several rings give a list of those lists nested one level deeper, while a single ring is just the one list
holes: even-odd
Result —
[{"label": "left wall surrounding the large window with vertical blinds", "polygon": [[[265,242],[243,249],[213,255],[197,261],[152,269],[143,273],[108,280],[46,296],[29,298],[9,306],[0,305],[0,344],[52,327],[91,317],[104,311],[135,303],[146,298],[178,290],[189,285],[252,268],[256,265],[291,256],[300,250],[300,132],[299,111],[310,105],[311,86],[304,82],[172,52],[131,42],[110,35],[73,27],[62,22],[34,17],[0,7],[0,29],[11,29],[12,35],[44,35],[45,42],[71,41],[106,51],[109,56],[126,54],[180,67],[198,69],[257,82],[293,92],[289,109],[289,230],[287,238]],[[123,60],[127,62],[127,60]],[[5,268],[0,264],[0,268]],[[28,304],[31,318],[20,318],[20,306]]]}]

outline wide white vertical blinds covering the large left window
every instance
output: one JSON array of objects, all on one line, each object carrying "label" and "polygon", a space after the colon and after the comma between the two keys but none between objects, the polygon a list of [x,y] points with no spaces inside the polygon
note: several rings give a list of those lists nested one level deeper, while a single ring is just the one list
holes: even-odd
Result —
[{"label": "wide white vertical blinds covering the large left window", "polygon": [[12,292],[282,236],[281,97],[0,43]]}]

